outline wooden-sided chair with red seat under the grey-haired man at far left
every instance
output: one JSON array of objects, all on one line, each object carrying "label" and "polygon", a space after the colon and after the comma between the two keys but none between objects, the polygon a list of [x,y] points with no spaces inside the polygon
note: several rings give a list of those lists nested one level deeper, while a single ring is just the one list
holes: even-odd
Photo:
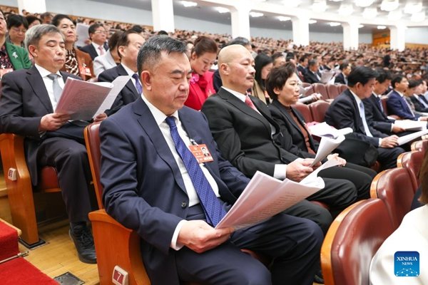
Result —
[{"label": "wooden-sided chair with red seat under the grey-haired man at far left", "polygon": [[[33,187],[24,155],[24,137],[10,133],[0,135],[1,162],[11,207],[14,226],[22,230],[21,242],[27,247],[40,244],[34,208],[34,192],[59,192],[56,169],[43,167],[39,172],[39,185]],[[8,178],[8,172],[16,170],[16,180]]]}]

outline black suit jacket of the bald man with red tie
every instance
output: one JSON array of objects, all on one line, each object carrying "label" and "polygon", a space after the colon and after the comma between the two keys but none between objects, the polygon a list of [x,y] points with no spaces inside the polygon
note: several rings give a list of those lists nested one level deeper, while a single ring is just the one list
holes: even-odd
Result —
[{"label": "black suit jacket of the bald man with red tie", "polygon": [[270,125],[275,127],[275,135],[280,135],[279,125],[270,117],[265,103],[253,96],[250,99],[263,116],[224,88],[208,97],[201,111],[208,117],[220,152],[232,165],[248,177],[257,170],[273,176],[275,165],[288,164],[299,157],[273,141]]}]

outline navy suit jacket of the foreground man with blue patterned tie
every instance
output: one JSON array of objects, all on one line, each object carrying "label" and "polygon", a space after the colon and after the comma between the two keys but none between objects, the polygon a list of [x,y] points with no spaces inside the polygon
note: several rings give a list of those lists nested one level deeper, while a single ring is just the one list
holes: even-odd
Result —
[{"label": "navy suit jacket of the foreground man with blue patterned tie", "polygon": [[[208,147],[205,162],[223,201],[233,204],[249,180],[216,149],[208,123],[198,111],[183,107],[178,116],[190,138]],[[188,195],[173,154],[142,98],[103,120],[101,183],[108,214],[138,232],[144,265],[152,284],[178,285],[175,227],[188,214]]]}]

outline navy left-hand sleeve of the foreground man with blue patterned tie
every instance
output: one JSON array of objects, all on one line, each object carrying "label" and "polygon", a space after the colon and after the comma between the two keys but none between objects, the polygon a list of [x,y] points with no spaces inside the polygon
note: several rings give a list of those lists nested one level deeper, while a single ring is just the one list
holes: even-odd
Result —
[{"label": "navy left-hand sleeve of the foreground man with blue patterned tie", "polygon": [[100,139],[101,183],[106,212],[168,254],[175,227],[182,219],[152,207],[138,195],[136,150],[123,133],[122,125],[114,120],[104,120]]}]

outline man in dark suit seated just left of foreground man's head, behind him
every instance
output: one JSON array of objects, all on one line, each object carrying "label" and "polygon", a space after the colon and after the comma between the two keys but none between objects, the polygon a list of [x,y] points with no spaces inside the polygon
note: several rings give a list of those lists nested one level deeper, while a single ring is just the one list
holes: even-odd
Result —
[{"label": "man in dark suit seated just left of foreground man's head, behind him", "polygon": [[118,40],[118,55],[121,58],[121,64],[103,71],[98,76],[100,82],[113,82],[118,76],[131,76],[126,86],[116,97],[116,100],[108,110],[108,115],[115,113],[123,105],[132,103],[141,95],[141,81],[137,73],[137,56],[144,38],[133,30],[128,30],[121,34]]}]

